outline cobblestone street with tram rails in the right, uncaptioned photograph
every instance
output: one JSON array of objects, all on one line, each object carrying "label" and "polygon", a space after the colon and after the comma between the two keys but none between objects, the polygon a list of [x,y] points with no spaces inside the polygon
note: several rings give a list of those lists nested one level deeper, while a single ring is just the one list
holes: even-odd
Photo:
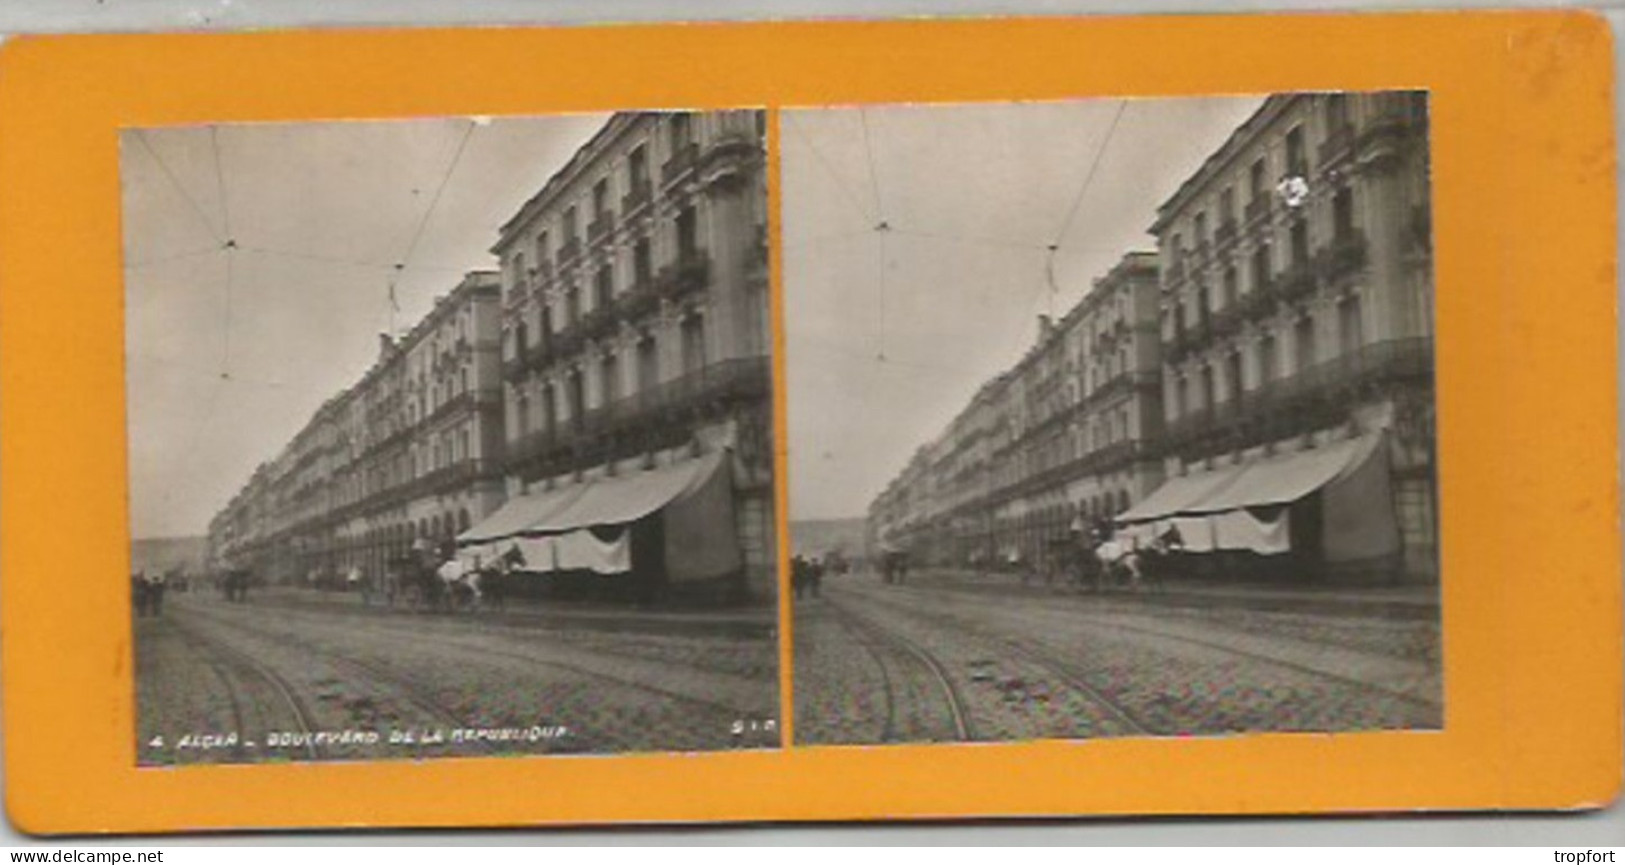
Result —
[{"label": "cobblestone street with tram rails in the right, uncaptioned photograph", "polygon": [[1441,727],[1436,615],[1346,595],[1250,605],[1201,603],[1181,587],[1082,595],[942,574],[826,579],[821,597],[796,602],[796,740]]}]

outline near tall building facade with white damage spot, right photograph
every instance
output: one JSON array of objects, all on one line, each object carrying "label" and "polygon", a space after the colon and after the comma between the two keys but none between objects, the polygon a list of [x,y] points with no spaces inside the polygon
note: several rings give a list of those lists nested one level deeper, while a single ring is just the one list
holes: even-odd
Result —
[{"label": "near tall building facade with white damage spot, right photograph", "polygon": [[[1133,520],[1292,504],[1295,553],[1433,572],[1428,202],[1425,96],[1331,93],[1269,98],[1162,205],[1173,480]],[[1282,481],[1316,473],[1308,450],[1362,437],[1386,476],[1360,502]],[[1384,509],[1393,528],[1372,525]],[[1358,537],[1339,535],[1339,511],[1368,515]]]}]

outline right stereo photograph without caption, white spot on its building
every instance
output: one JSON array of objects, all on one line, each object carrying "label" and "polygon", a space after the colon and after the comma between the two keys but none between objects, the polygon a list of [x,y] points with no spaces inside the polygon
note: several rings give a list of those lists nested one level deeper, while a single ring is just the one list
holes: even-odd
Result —
[{"label": "right stereo photograph without caption, white spot on its building", "polygon": [[798,745],[1443,728],[1425,93],[780,124]]}]

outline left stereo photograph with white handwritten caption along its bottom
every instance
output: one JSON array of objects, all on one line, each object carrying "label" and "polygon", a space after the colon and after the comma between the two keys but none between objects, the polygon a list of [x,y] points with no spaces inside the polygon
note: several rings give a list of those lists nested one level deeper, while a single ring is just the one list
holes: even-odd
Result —
[{"label": "left stereo photograph with white handwritten caption along its bottom", "polygon": [[780,746],[765,122],[122,135],[140,766]]}]

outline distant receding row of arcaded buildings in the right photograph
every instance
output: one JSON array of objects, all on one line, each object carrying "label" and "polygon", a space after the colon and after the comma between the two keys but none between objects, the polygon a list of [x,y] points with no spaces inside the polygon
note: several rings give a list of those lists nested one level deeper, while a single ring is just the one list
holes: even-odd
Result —
[{"label": "distant receding row of arcaded buildings in the right photograph", "polygon": [[1042,563],[1162,480],[1157,257],[1098,278],[921,447],[869,511],[874,543],[934,564]]}]

